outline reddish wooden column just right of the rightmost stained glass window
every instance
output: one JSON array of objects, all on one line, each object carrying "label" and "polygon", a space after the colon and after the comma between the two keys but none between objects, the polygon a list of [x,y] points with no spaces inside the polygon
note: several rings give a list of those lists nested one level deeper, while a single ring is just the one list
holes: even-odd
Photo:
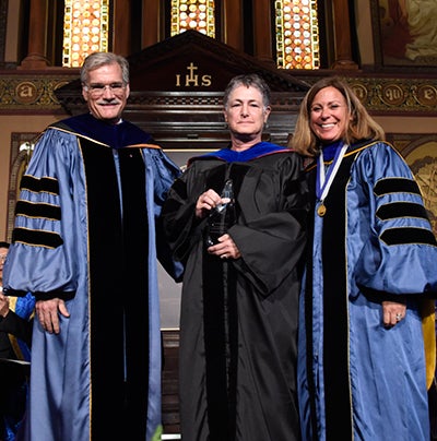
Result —
[{"label": "reddish wooden column just right of the rightmost stained glass window", "polygon": [[352,59],[351,22],[347,0],[333,0],[335,61],[332,69],[358,69]]}]

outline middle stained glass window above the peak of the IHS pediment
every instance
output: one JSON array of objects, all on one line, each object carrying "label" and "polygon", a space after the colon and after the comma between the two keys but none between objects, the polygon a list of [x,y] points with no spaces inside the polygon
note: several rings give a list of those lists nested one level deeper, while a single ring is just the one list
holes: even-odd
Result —
[{"label": "middle stained glass window above the peak of the IHS pediment", "polygon": [[194,29],[215,37],[213,0],[172,0],[172,36]]}]

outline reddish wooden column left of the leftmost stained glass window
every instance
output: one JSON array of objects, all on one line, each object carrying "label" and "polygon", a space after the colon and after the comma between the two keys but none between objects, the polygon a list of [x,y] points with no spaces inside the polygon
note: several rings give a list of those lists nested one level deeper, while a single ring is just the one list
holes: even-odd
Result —
[{"label": "reddish wooden column left of the leftmost stained glass window", "polygon": [[22,69],[44,69],[49,65],[47,48],[47,0],[31,0],[28,52]]}]

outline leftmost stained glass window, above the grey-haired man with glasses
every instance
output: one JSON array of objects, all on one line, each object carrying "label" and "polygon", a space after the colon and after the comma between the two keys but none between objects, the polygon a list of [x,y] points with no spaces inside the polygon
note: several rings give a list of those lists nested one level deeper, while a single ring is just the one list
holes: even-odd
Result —
[{"label": "leftmost stained glass window, above the grey-haired man with glasses", "polygon": [[62,65],[78,68],[92,52],[108,50],[109,0],[66,0]]}]

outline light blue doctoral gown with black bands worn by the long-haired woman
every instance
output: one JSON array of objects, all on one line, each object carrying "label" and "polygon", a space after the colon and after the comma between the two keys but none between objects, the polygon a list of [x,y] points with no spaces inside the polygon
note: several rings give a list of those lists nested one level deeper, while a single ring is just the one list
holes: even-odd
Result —
[{"label": "light blue doctoral gown with black bands worn by the long-haired woman", "polygon": [[[349,147],[324,216],[319,204],[299,307],[303,439],[427,441],[418,300],[436,295],[437,247],[418,187],[392,146],[364,142]],[[400,295],[406,315],[386,329],[380,301]]]}]

